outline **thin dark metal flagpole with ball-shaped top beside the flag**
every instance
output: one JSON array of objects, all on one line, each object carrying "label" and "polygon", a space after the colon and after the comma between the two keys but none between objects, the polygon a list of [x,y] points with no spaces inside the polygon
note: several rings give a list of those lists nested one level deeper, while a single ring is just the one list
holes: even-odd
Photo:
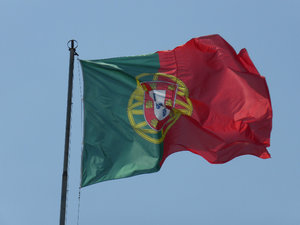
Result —
[{"label": "thin dark metal flagpole with ball-shaped top beside the flag", "polygon": [[[74,45],[76,43],[76,46]],[[71,44],[71,46],[69,46]],[[61,202],[60,202],[60,225],[65,225],[66,217],[66,203],[67,203],[67,187],[68,187],[68,163],[69,163],[69,144],[70,144],[70,125],[71,125],[71,110],[72,110],[72,91],[73,91],[73,70],[74,70],[74,56],[76,53],[77,41],[70,40],[68,42],[70,51],[69,63],[69,84],[68,84],[68,103],[66,115],[66,132],[65,132],[65,151],[64,164],[61,185]]]}]

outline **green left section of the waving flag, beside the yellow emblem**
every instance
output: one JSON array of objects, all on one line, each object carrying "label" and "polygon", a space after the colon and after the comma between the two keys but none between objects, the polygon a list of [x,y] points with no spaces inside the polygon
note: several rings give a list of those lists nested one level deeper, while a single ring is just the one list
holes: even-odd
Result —
[{"label": "green left section of the waving flag, beside the yellow emblem", "polygon": [[[80,62],[84,80],[81,186],[158,171],[162,144],[141,137],[128,118],[128,110],[136,118],[143,117],[141,101],[132,102],[130,109],[129,99],[137,88],[136,76],[158,71],[158,54]],[[146,125],[143,118],[135,123]]]}]

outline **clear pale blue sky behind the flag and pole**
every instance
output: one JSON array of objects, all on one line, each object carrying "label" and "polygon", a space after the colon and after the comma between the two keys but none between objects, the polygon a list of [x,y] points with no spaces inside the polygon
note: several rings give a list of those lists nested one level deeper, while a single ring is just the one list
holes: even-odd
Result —
[{"label": "clear pale blue sky behind the flag and pole", "polygon": [[[0,225],[59,224],[69,51],[82,59],[168,50],[220,34],[246,48],[273,106],[271,159],[212,165],[171,155],[161,171],[83,188],[80,225],[300,224],[300,1],[0,1]],[[78,220],[79,65],[67,225]]]}]

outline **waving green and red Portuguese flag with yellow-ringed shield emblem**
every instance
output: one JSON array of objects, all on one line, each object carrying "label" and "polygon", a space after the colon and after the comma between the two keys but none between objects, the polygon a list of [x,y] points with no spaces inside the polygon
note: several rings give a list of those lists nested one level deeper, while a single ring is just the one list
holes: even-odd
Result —
[{"label": "waving green and red Portuguese flag with yellow-ringed shield emblem", "polygon": [[245,49],[236,54],[219,35],[149,55],[80,62],[82,187],[156,172],[178,151],[210,163],[270,157],[265,78]]}]

